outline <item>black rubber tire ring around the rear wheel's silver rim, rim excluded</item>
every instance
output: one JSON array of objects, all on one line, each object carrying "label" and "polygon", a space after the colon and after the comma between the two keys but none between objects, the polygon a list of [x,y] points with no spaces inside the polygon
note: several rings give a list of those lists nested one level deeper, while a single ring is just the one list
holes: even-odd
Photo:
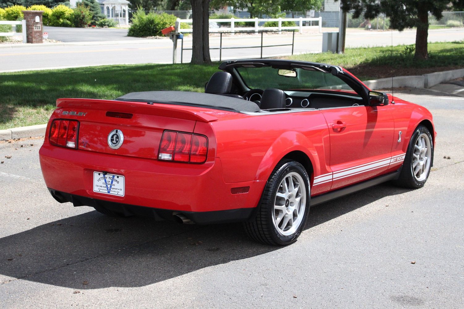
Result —
[{"label": "black rubber tire ring around the rear wheel's silver rim, rim excluded", "polygon": [[[284,180],[284,177],[291,172],[296,172],[300,174],[300,176],[303,178],[304,185],[306,187],[306,194],[307,194],[306,206],[304,209],[303,220],[300,226],[298,227],[298,229],[293,234],[289,236],[284,236],[277,231],[277,227],[274,224],[274,202],[276,199],[276,193],[277,193],[280,183],[282,182],[282,180]],[[279,169],[277,169],[277,171],[273,175],[271,175],[271,181],[268,183],[266,190],[268,190],[268,192],[270,193],[269,194],[270,198],[266,200],[265,202],[268,203],[267,204],[268,222],[273,227],[272,237],[280,245],[289,245],[295,242],[296,238],[298,238],[301,232],[303,232],[304,226],[306,225],[306,221],[308,219],[309,205],[310,205],[309,200],[310,200],[310,195],[311,195],[308,173],[306,172],[306,169],[300,163],[296,161],[290,161],[290,162],[284,163]]]}]

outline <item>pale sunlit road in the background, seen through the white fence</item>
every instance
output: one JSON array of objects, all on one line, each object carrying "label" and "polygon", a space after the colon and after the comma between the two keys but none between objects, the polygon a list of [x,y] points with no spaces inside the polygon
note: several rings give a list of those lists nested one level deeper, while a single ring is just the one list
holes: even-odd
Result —
[{"label": "pale sunlit road in the background, seen through the white fence", "polygon": [[[110,30],[113,31],[113,29]],[[415,35],[415,31],[393,32],[393,45],[414,44]],[[429,42],[463,39],[462,29],[429,31]],[[219,37],[212,37],[210,47],[219,47],[219,40]],[[264,45],[291,44],[291,42],[291,35],[269,35],[263,39]],[[172,42],[169,39],[121,40],[116,43],[77,42],[27,48],[2,47],[0,48],[0,72],[102,64],[172,63]],[[222,43],[224,47],[257,46],[260,44],[260,36],[235,35],[224,38]],[[346,46],[389,46],[391,44],[392,32],[356,30],[348,33]],[[191,46],[192,39],[186,36],[184,47],[191,48]],[[321,52],[321,50],[322,34],[295,34],[295,53]],[[291,46],[266,47],[263,50],[264,57],[290,53]],[[191,55],[191,51],[185,51],[184,61],[189,61]],[[219,50],[211,50],[211,57],[219,60]],[[222,60],[254,57],[260,57],[259,48],[228,49],[222,52]],[[180,61],[180,50],[178,61]]]}]

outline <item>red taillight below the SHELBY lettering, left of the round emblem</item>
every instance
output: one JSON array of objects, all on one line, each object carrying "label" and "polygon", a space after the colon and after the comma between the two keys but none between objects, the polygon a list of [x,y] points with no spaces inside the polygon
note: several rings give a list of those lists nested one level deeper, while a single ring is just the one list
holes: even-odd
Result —
[{"label": "red taillight below the SHELBY lettering, left of the round emblem", "polygon": [[77,120],[55,119],[50,126],[48,141],[52,145],[77,149]]}]

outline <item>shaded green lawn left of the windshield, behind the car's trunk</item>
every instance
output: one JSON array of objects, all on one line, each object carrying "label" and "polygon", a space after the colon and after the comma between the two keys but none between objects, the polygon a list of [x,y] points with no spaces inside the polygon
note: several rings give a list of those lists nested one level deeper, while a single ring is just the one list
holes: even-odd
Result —
[{"label": "shaded green lawn left of the windshield, behind the car's trunk", "polygon": [[46,123],[60,97],[114,99],[132,91],[203,91],[218,64],[105,65],[0,74],[0,129]]}]

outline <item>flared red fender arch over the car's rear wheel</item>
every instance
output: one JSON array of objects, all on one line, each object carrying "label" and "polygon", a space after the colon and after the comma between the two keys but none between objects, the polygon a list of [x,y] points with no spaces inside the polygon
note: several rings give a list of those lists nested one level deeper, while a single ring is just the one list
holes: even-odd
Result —
[{"label": "flared red fender arch over the car's rear wheel", "polygon": [[[272,170],[277,166],[277,163],[282,158],[292,151],[301,151],[309,157],[315,174],[320,174],[321,162],[317,155],[316,148],[313,143],[303,134],[295,131],[287,131],[280,135],[261,161],[255,180],[268,180],[271,176]],[[311,171],[308,171],[308,174]],[[309,174],[311,178],[311,175]]]}]

